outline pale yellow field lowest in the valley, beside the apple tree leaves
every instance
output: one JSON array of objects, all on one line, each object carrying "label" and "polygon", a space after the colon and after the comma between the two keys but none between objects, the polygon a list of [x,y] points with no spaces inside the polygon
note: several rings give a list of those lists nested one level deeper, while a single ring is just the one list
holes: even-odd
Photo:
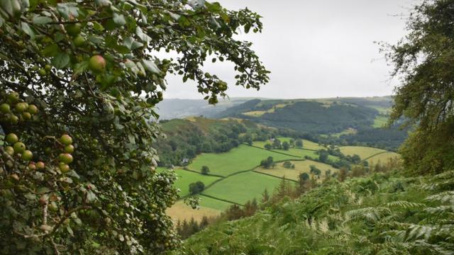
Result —
[{"label": "pale yellow field lowest in the valley, beside the apple tree leaves", "polygon": [[177,222],[178,220],[191,220],[194,218],[197,222],[200,222],[202,217],[214,217],[221,214],[221,210],[216,210],[212,208],[200,207],[198,210],[192,209],[190,206],[186,205],[182,200],[177,201],[175,205],[166,210],[167,215],[169,215],[172,220]]}]

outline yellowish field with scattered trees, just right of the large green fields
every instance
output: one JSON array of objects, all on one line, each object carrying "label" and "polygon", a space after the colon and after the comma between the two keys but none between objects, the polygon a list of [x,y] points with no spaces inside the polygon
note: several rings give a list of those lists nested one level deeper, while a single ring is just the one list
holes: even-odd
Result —
[{"label": "yellowish field with scattered trees, just right of the large green fields", "polygon": [[[312,160],[304,160],[304,161],[293,161],[292,164],[295,165],[295,169],[286,169],[284,166],[282,166],[283,163],[278,163],[277,166],[274,169],[263,169],[261,167],[258,167],[255,169],[255,171],[259,171],[260,173],[264,174],[270,174],[272,176],[276,176],[279,178],[282,178],[285,176],[286,179],[298,181],[299,180],[299,174],[302,173],[310,173],[311,170],[311,165],[316,166],[318,169],[321,170],[321,178],[323,178],[325,171],[326,170],[331,170],[331,174],[335,173],[338,171],[338,169],[333,168],[333,166],[330,166],[328,164],[323,164],[320,162],[314,162]],[[321,181],[322,179],[320,179]]]}]

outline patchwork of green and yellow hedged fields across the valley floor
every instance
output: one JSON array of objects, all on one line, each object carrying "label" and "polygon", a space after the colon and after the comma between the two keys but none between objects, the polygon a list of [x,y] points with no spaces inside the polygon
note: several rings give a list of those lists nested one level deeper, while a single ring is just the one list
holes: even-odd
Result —
[{"label": "patchwork of green and yellow hedged fields across the valley floor", "polygon": [[[281,142],[293,140],[291,137],[276,137]],[[336,177],[339,169],[319,162],[319,150],[327,147],[310,140],[301,140],[303,147],[290,147],[289,149],[265,149],[265,145],[271,140],[253,141],[252,145],[243,143],[229,152],[224,153],[201,153],[197,155],[187,166],[175,166],[174,171],[178,179],[175,187],[180,191],[179,200],[167,214],[175,221],[201,220],[202,217],[214,217],[220,215],[231,205],[245,205],[251,200],[262,199],[265,189],[272,193],[279,186],[282,179],[297,183],[301,174],[306,173],[311,178],[321,183],[324,179]],[[372,147],[338,147],[346,156],[359,155],[362,161],[377,164],[387,162],[389,159],[399,157],[395,152],[387,152],[383,149]],[[272,157],[275,166],[265,169],[260,166],[262,159]],[[331,162],[338,162],[339,157],[328,155]],[[290,162],[291,167],[284,166],[284,162]],[[208,166],[209,173],[201,174],[201,169]],[[311,167],[321,170],[319,175],[311,173]],[[159,171],[166,171],[160,167]],[[185,205],[184,198],[190,196],[189,185],[201,181],[204,190],[194,194],[200,199],[200,208],[192,209]]]}]

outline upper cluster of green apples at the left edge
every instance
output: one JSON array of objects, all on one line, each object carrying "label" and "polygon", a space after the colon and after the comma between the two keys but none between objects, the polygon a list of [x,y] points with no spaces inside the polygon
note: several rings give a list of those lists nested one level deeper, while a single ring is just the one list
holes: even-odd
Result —
[{"label": "upper cluster of green apples at the left edge", "polygon": [[11,124],[30,120],[36,113],[38,113],[38,107],[21,101],[17,92],[11,92],[6,96],[5,102],[0,104],[2,120],[9,121]]}]

